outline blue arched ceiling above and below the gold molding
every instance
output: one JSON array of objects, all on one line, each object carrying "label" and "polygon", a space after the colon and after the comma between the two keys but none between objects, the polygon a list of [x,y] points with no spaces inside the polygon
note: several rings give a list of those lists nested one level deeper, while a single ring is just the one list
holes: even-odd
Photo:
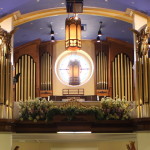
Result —
[{"label": "blue arched ceiling above and below the gold molding", "polygon": [[[150,15],[150,0],[84,0],[84,8],[103,8],[122,11],[125,13],[127,8],[140,11]],[[65,0],[0,0],[0,16],[6,16],[15,11],[21,14],[31,13],[50,8],[65,8]],[[94,14],[91,12],[91,14]],[[52,23],[55,31],[55,39],[63,40],[65,38],[65,18],[67,14],[50,16],[33,20],[19,25],[19,30],[15,34],[15,46],[40,38],[42,41],[50,39],[50,28],[48,25]],[[116,15],[117,16],[117,15]],[[108,16],[97,16],[89,14],[79,14],[82,24],[87,25],[87,30],[82,31],[82,39],[96,39],[99,29],[99,22],[103,22],[103,37],[112,37],[128,41],[132,43],[132,33],[129,28],[132,24],[118,20],[118,18],[109,18]]]}]

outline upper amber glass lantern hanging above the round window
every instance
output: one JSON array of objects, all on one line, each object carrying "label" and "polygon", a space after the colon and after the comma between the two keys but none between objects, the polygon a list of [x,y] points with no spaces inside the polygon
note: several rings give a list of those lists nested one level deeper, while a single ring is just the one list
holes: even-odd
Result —
[{"label": "upper amber glass lantern hanging above the round window", "polygon": [[66,49],[76,51],[81,48],[81,19],[66,18]]}]

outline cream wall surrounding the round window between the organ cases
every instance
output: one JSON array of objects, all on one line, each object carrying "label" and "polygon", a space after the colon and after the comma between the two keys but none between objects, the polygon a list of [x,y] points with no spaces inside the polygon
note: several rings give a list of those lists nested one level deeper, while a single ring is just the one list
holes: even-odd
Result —
[{"label": "cream wall surrounding the round window between the organ cases", "polygon": [[[82,48],[83,51],[88,53],[92,58],[95,66],[95,47],[94,42],[91,40],[83,40],[82,41]],[[57,57],[65,51],[65,42],[64,41],[57,41],[54,45],[53,49],[53,68],[55,67],[55,61]],[[92,75],[91,79],[82,86],[70,87],[67,85],[62,84],[53,71],[53,95],[62,95],[62,89],[77,89],[77,88],[84,88],[85,95],[95,95],[95,77],[94,74]]]}]

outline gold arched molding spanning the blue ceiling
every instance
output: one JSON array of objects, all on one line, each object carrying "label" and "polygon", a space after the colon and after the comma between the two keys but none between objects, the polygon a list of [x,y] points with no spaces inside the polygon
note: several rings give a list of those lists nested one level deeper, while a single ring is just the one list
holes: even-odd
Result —
[{"label": "gold arched molding spanning the blue ceiling", "polygon": [[[14,26],[19,26],[21,24],[30,22],[32,20],[37,20],[37,19],[46,18],[50,16],[65,15],[65,14],[67,14],[66,8],[43,9],[43,10],[34,11],[27,14],[21,14],[20,17],[18,17],[18,19],[14,21]],[[105,17],[119,19],[128,23],[132,23],[132,17],[128,15],[126,12],[112,10],[112,9],[84,7],[82,14],[105,16]]]}]

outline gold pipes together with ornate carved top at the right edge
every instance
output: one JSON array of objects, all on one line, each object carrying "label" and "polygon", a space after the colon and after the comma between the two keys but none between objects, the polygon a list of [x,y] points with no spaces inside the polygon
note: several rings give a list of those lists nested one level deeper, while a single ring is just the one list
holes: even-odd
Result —
[{"label": "gold pipes together with ornate carved top at the right edge", "polygon": [[133,30],[136,39],[136,62],[134,78],[136,86],[136,104],[138,117],[150,117],[150,58],[148,56],[148,38],[150,28],[144,26],[140,31]]}]

